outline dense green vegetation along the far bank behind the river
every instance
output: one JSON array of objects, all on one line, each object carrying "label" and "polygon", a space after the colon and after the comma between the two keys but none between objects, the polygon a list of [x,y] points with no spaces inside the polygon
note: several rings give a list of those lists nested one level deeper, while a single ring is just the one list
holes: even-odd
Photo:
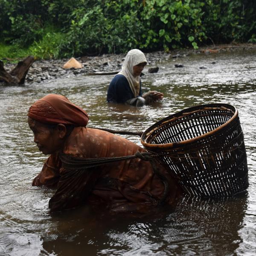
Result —
[{"label": "dense green vegetation along the far bank behind the river", "polygon": [[256,43],[252,0],[0,0],[0,58]]}]

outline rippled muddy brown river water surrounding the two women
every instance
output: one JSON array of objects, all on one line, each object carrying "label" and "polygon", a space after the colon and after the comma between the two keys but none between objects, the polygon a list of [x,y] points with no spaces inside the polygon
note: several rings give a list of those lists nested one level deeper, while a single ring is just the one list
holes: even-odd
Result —
[{"label": "rippled muddy brown river water surrounding the two women", "polygon": [[[184,67],[175,68],[177,62]],[[255,255],[256,52],[170,58],[156,74],[146,69],[143,90],[162,91],[165,98],[143,108],[106,104],[112,76],[0,87],[0,256]],[[228,199],[185,196],[175,209],[145,218],[94,214],[87,207],[49,215],[54,191],[31,186],[46,157],[26,123],[29,106],[48,93],[63,94],[87,110],[90,126],[129,131],[145,130],[193,105],[230,103],[239,110],[250,186]],[[139,137],[125,137],[141,145]]]}]

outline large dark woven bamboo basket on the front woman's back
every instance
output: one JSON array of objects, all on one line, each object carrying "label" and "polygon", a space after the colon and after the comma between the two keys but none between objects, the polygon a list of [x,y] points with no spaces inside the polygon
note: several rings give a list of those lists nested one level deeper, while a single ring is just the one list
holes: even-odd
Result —
[{"label": "large dark woven bamboo basket on the front woman's back", "polygon": [[175,113],[148,128],[141,143],[189,195],[220,198],[248,187],[244,135],[232,105],[205,104]]}]

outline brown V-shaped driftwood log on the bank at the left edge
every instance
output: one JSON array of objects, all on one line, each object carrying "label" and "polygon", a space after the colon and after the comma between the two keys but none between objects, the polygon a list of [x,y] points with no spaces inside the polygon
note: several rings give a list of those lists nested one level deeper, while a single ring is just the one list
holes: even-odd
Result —
[{"label": "brown V-shaped driftwood log on the bank at the left edge", "polygon": [[24,84],[29,67],[34,61],[35,58],[33,56],[28,56],[23,61],[20,61],[11,72],[7,72],[3,67],[3,61],[0,60],[0,80],[9,85]]}]

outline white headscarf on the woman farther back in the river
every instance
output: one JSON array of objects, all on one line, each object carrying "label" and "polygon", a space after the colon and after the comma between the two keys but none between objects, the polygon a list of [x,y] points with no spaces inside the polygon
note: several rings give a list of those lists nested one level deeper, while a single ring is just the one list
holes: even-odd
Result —
[{"label": "white headscarf on the woman farther back in the river", "polygon": [[143,62],[148,62],[144,53],[138,49],[132,49],[126,54],[122,70],[117,74],[126,77],[134,97],[140,93],[140,76],[134,76],[133,67]]}]

